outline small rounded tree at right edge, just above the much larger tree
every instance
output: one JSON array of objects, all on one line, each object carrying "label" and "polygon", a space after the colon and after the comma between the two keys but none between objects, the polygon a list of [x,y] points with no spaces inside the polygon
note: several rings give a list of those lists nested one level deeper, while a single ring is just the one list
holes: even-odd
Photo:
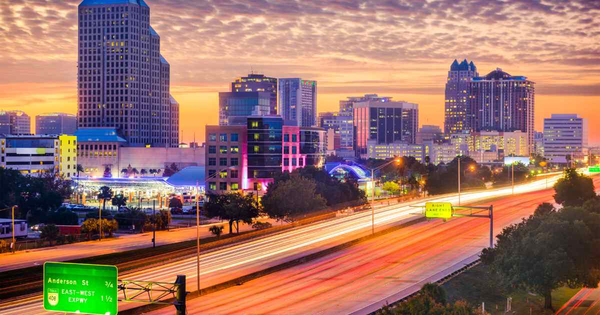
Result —
[{"label": "small rounded tree at right edge, just above the much larger tree", "polygon": [[563,206],[581,206],[596,197],[594,183],[575,169],[566,169],[565,175],[554,184],[554,200]]}]

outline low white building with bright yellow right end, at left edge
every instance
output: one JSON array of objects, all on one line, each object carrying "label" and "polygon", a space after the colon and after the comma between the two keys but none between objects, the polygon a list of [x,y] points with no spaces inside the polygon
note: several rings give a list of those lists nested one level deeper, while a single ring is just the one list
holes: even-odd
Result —
[{"label": "low white building with bright yellow right end, at left edge", "polygon": [[77,138],[74,136],[14,135],[0,137],[0,167],[28,175],[55,173],[75,176]]}]

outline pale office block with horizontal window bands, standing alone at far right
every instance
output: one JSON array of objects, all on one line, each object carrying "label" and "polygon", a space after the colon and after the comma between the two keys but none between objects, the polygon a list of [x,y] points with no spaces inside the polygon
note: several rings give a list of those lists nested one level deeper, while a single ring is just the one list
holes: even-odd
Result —
[{"label": "pale office block with horizontal window bands, standing alone at far right", "polygon": [[552,163],[587,161],[587,119],[577,114],[544,118],[544,157]]}]

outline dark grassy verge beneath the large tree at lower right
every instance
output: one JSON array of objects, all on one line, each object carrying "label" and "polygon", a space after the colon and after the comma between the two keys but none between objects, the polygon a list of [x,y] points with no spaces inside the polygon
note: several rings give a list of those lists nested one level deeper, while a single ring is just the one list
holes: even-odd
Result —
[{"label": "dark grassy verge beneath the large tree at lower right", "polygon": [[[500,284],[498,275],[491,273],[482,264],[463,272],[442,284],[448,295],[448,301],[466,300],[472,305],[485,302],[485,311],[493,315],[506,314],[506,298],[511,297],[511,310],[514,314],[553,314],[544,310],[544,298],[525,290],[513,289]],[[552,292],[552,305],[558,310],[579,289],[561,287]]]}]

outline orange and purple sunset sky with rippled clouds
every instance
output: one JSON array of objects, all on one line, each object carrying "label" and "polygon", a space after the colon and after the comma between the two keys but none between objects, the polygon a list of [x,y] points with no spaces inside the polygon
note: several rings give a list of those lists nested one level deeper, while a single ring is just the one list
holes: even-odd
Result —
[{"label": "orange and purple sunset sky with rippled clouds", "polygon": [[[146,0],[184,140],[217,124],[217,92],[254,72],[317,80],[319,111],[351,95],[418,103],[443,125],[451,62],[536,82],[536,130],[550,113],[589,119],[600,143],[600,1]],[[77,5],[0,1],[0,109],[75,113]]]}]

